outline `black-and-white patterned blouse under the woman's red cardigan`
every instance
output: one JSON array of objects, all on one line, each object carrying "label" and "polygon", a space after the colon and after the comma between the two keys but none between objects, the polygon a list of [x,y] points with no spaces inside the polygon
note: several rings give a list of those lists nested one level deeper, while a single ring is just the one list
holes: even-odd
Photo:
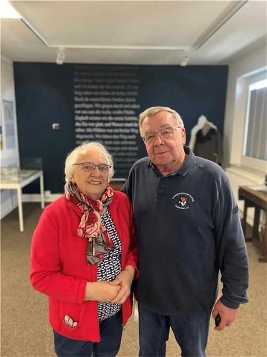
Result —
[{"label": "black-and-white patterned blouse under the woman's red cardigan", "polygon": [[[122,244],[109,210],[101,216],[101,221],[108,230],[115,249],[110,253],[104,254],[104,258],[97,268],[97,280],[112,281],[122,271]],[[121,308],[121,304],[98,301],[97,309],[99,321],[115,315]]]}]

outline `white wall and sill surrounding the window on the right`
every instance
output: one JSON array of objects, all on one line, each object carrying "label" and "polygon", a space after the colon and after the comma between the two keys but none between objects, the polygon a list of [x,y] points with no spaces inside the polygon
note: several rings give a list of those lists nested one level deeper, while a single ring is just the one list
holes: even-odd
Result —
[{"label": "white wall and sill surrounding the window on the right", "polygon": [[[235,198],[241,211],[244,201],[238,201],[238,187],[242,185],[260,185],[264,183],[263,162],[254,160],[252,164],[242,164],[242,147],[245,131],[247,87],[249,75],[263,71],[267,67],[267,47],[261,47],[240,60],[229,65],[226,107],[223,131],[223,167],[229,176]],[[253,209],[248,211],[251,224]]]}]

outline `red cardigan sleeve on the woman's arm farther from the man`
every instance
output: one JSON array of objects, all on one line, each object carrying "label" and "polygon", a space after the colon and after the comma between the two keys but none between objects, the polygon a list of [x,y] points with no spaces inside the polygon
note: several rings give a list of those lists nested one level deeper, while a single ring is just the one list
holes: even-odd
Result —
[{"label": "red cardigan sleeve on the woman's arm farther from the man", "polygon": [[83,303],[87,280],[62,274],[59,232],[57,215],[45,208],[32,239],[30,280],[34,289],[49,297]]}]

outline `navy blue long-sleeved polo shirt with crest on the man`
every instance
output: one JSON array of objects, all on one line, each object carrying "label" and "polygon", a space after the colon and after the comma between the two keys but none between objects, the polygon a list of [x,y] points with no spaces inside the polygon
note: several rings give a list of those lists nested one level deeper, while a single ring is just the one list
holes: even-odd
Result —
[{"label": "navy blue long-sleeved polo shirt with crest on the man", "polygon": [[122,191],[134,207],[140,274],[137,301],[164,315],[204,311],[217,297],[237,308],[247,301],[248,262],[238,208],[223,169],[196,157],[162,176],[138,160]]}]

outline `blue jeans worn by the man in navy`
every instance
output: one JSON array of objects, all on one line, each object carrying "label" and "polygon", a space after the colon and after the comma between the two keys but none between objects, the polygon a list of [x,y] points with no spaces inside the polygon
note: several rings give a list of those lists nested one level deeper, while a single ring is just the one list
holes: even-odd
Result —
[{"label": "blue jeans worn by the man in navy", "polygon": [[211,309],[204,312],[166,316],[157,314],[143,304],[139,310],[139,356],[163,357],[170,327],[183,357],[205,357]]}]

